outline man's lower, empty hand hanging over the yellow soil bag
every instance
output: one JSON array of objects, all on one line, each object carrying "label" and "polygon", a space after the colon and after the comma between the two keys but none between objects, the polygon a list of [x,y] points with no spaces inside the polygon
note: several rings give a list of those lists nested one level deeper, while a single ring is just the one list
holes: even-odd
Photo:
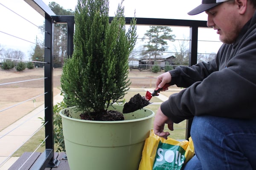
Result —
[{"label": "man's lower, empty hand hanging over the yellow soil bag", "polygon": [[172,120],[170,120],[166,115],[164,115],[159,107],[159,109],[157,110],[157,114],[154,118],[154,134],[167,139],[167,136],[169,136],[170,133],[163,132],[165,124],[168,124],[169,130],[173,131]]}]

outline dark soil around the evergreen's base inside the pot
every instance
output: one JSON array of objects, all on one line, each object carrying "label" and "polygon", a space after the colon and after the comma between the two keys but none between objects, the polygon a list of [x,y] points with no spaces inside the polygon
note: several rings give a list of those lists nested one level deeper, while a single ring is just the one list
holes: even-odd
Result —
[{"label": "dark soil around the evergreen's base inside the pot", "polygon": [[104,110],[102,112],[90,112],[82,113],[80,115],[82,120],[90,120],[90,121],[123,121],[125,120],[124,115],[115,110]]}]

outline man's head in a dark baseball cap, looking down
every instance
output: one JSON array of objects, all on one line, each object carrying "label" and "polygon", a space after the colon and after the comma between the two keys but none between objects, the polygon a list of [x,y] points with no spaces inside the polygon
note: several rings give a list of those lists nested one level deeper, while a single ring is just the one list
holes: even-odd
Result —
[{"label": "man's head in a dark baseball cap, looking down", "polygon": [[188,14],[208,14],[207,26],[217,30],[223,43],[236,41],[243,26],[255,12],[256,0],[202,0],[202,4]]}]

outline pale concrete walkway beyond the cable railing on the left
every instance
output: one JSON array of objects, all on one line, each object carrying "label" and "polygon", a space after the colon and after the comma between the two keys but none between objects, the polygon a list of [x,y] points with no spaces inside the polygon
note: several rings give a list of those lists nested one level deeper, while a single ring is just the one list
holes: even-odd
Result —
[{"label": "pale concrete walkway beyond the cable railing on the left", "polygon": [[[62,101],[62,96],[56,95],[53,103]],[[19,157],[11,157],[31,136],[42,126],[44,105],[36,108],[23,118],[6,127],[0,132],[0,170],[8,170]]]}]

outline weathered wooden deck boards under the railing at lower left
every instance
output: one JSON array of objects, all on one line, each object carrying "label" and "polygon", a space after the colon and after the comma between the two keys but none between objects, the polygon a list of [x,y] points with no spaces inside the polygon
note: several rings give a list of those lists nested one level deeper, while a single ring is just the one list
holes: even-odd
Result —
[{"label": "weathered wooden deck boards under the railing at lower left", "polygon": [[[29,170],[33,166],[35,161],[38,159],[40,154],[41,153],[34,153],[32,155],[31,152],[25,152],[8,170]],[[47,167],[45,168],[45,170],[70,170],[65,153],[54,153],[54,155],[54,157],[60,161],[58,167]],[[31,157],[29,158],[29,156]],[[24,162],[26,163],[24,164]]]}]

